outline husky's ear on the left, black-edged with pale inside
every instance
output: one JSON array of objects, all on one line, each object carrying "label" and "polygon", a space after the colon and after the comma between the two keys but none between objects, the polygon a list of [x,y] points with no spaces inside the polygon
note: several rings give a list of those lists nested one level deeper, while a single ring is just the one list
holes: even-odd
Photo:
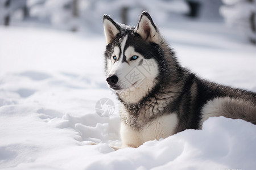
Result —
[{"label": "husky's ear on the left, black-edged with pale inside", "polygon": [[103,23],[106,41],[109,44],[120,32],[120,27],[112,18],[110,18],[110,16],[106,14],[103,17]]}]

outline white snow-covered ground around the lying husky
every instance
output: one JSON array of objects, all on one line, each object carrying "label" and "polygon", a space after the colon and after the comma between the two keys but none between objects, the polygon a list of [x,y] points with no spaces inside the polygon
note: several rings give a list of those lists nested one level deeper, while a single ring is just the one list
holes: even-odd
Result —
[{"label": "white snow-covered ground around the lying husky", "polygon": [[[162,29],[183,66],[256,92],[256,48],[221,24]],[[120,145],[118,101],[105,83],[104,36],[0,27],[0,168],[254,169],[256,126],[210,118],[139,148]],[[95,105],[108,97],[110,117]],[[99,143],[89,145],[90,141]]]}]

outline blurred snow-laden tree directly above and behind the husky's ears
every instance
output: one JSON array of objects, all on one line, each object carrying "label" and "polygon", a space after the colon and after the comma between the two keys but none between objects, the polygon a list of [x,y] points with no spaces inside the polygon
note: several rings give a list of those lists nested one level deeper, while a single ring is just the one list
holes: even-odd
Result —
[{"label": "blurred snow-laden tree directly above and behind the husky's ears", "polygon": [[98,10],[103,10],[109,15],[115,15],[119,21],[124,24],[137,24],[138,16],[143,10],[150,12],[154,16],[156,23],[161,24],[168,20],[170,14],[187,14],[189,7],[184,0],[114,0],[114,1],[98,1]]}]

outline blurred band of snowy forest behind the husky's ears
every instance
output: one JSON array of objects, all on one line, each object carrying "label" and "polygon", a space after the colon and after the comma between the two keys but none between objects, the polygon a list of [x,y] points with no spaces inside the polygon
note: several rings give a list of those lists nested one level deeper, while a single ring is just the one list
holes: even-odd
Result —
[{"label": "blurred band of snowy forest behind the husky's ears", "polygon": [[0,25],[102,35],[104,14],[120,23],[137,25],[143,10],[150,12],[160,28],[189,27],[184,23],[193,22],[225,23],[237,29],[245,42],[256,42],[255,0],[0,0]]}]

